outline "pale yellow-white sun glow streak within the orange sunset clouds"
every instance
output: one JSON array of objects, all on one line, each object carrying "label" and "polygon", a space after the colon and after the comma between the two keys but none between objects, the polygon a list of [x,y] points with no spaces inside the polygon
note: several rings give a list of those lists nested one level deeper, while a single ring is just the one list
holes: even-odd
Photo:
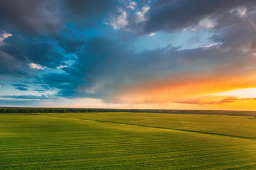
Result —
[{"label": "pale yellow-white sun glow streak within the orange sunset clouds", "polygon": [[236,96],[239,98],[255,98],[256,88],[230,90],[214,94],[216,96]]}]

